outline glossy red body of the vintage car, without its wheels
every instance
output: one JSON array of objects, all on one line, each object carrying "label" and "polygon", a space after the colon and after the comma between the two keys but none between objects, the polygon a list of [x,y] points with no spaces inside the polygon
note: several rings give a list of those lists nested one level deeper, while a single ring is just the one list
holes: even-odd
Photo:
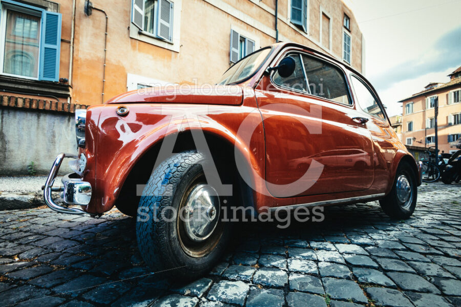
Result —
[{"label": "glossy red body of the vintage car, without its wheels", "polygon": [[[286,57],[296,68],[284,78],[277,65]],[[378,94],[349,65],[296,43],[277,43],[237,62],[220,83],[206,91],[170,86],[128,92],[77,114],[78,155],[71,158],[79,174],[65,177],[64,189],[52,188],[64,159],[59,156],[45,186],[47,204],[93,215],[117,206],[136,215],[166,136],[175,135],[176,152],[196,149],[196,130],[218,171],[239,170],[231,182],[234,196],[256,212],[383,199],[399,186],[403,162],[412,185],[421,184],[421,166],[395,134]],[[362,104],[359,95],[366,97]],[[320,174],[312,175],[312,165]],[[305,188],[290,190],[294,182]],[[52,191],[82,208],[55,203]]]}]

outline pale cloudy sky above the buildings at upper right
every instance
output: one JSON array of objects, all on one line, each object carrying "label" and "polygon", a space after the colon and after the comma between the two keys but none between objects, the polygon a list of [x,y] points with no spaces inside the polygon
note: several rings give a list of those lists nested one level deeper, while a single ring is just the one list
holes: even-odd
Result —
[{"label": "pale cloudy sky above the buildings at upper right", "polygon": [[344,0],[365,38],[365,76],[387,107],[461,66],[461,0]]}]

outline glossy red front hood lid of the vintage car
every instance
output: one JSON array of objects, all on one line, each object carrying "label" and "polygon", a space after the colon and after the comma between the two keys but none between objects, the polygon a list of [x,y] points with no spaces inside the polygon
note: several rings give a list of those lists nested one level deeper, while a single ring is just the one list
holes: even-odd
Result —
[{"label": "glossy red front hood lid of the vintage car", "polygon": [[239,105],[243,99],[243,88],[238,85],[188,84],[149,87],[120,94],[106,103],[193,103]]}]

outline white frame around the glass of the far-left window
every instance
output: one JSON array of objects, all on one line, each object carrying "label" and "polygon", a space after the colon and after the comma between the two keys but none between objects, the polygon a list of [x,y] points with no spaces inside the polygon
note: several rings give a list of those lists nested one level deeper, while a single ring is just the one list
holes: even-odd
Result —
[{"label": "white frame around the glass of the far-left window", "polygon": [[[3,38],[0,40],[0,75],[3,76],[10,76],[10,77],[15,77],[15,78],[21,78],[21,79],[29,79],[29,80],[40,80],[40,70],[41,70],[41,48],[43,45],[43,42],[41,41],[41,35],[43,31],[43,13],[45,10],[41,8],[36,8],[30,5],[25,5],[25,4],[15,4],[13,2],[5,2],[2,1],[0,2],[0,33],[3,33]],[[23,14],[28,14],[28,15],[33,15],[36,17],[40,17],[39,21],[39,37],[38,37],[38,57],[36,61],[38,62],[37,65],[37,77],[29,77],[29,76],[23,76],[23,75],[15,75],[15,74],[9,74],[9,73],[4,73],[4,65],[5,65],[5,40],[6,40],[6,21],[7,21],[7,12],[8,10],[12,10],[15,12],[23,13]]]}]

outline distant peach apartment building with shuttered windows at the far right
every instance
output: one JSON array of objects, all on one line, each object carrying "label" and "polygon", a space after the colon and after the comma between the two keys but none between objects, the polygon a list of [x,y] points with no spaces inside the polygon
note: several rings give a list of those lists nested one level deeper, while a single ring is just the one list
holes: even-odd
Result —
[{"label": "distant peach apartment building with shuttered windows at the far right", "polygon": [[448,75],[447,83],[432,82],[424,91],[405,98],[402,142],[406,145],[435,146],[434,102],[438,98],[438,148],[454,152],[451,143],[461,137],[461,67]]}]

